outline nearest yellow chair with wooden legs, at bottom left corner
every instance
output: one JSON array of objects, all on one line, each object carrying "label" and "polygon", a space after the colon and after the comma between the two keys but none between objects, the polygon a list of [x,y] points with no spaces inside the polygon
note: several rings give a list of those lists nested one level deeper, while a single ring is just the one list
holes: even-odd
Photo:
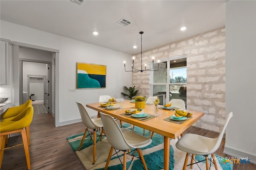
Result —
[{"label": "nearest yellow chair with wooden legs, at bottom left corner", "polygon": [[[22,136],[22,141],[23,141],[23,146],[26,154],[26,161],[27,161],[27,166],[28,170],[30,170],[30,156],[29,156],[29,149],[28,149],[28,137],[26,134],[26,127],[30,125],[33,119],[33,113],[34,109],[32,106],[26,107],[24,111],[22,111],[18,116],[16,116],[13,121],[2,121],[0,122],[0,168],[2,166],[2,160],[4,156],[4,150],[9,149],[12,147],[7,147],[5,148],[5,142],[6,138],[8,135],[13,134],[13,133],[21,133]],[[22,144],[18,144],[15,146],[19,146]]]}]

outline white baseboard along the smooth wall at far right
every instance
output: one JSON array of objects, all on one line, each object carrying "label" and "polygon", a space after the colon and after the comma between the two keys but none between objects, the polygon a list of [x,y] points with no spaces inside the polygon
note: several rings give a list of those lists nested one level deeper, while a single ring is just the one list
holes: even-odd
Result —
[{"label": "white baseboard along the smooth wall at far right", "polygon": [[224,154],[228,154],[230,156],[234,156],[236,158],[248,158],[250,159],[250,162],[253,164],[256,164],[256,156],[252,154],[248,154],[245,152],[242,152],[240,150],[236,150],[229,147],[224,147]]}]

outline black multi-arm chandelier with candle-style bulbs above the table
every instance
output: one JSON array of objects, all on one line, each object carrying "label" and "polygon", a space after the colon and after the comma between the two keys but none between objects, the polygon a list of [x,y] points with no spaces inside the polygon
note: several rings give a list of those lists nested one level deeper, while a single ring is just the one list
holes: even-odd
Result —
[{"label": "black multi-arm chandelier with candle-style bulbs above the table", "polygon": [[125,61],[124,61],[124,71],[126,71],[126,72],[132,72],[132,73],[135,73],[135,72],[146,72],[146,71],[158,71],[159,70],[159,60],[157,61],[158,62],[158,68],[157,68],[157,70],[154,70],[154,57],[152,57],[152,68],[148,68],[147,69],[147,64],[145,64],[145,69],[144,70],[142,70],[142,34],[143,34],[144,32],[142,32],[142,31],[140,31],[140,35],[141,35],[141,51],[140,51],[140,57],[141,57],[141,59],[140,59],[140,61],[141,61],[141,69],[136,69],[136,68],[134,68],[134,59],[135,59],[135,57],[132,57],[132,70],[130,70],[130,71],[126,71],[126,68],[125,68]]}]

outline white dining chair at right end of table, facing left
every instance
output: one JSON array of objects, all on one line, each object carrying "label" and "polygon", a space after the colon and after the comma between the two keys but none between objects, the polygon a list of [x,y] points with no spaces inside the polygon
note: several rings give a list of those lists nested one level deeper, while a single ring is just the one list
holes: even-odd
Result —
[{"label": "white dining chair at right end of table, facing left", "polygon": [[[177,141],[176,147],[186,152],[186,158],[184,161],[183,170],[186,170],[187,166],[190,166],[190,168],[193,168],[193,165],[198,163],[198,162],[193,163],[195,155],[205,156],[204,160],[206,161],[206,170],[209,170],[208,160],[210,160],[211,162],[213,161],[215,169],[218,170],[214,152],[220,147],[220,143],[222,141],[222,137],[224,135],[225,129],[232,116],[233,116],[233,113],[230,112],[226,118],[226,123],[222,131],[220,132],[219,136],[215,139],[192,134],[192,133],[186,133]],[[211,159],[208,158],[208,155],[210,154],[211,154]],[[187,165],[188,156],[191,156],[191,162],[189,165]],[[199,161],[199,162],[202,162],[202,161]]]}]

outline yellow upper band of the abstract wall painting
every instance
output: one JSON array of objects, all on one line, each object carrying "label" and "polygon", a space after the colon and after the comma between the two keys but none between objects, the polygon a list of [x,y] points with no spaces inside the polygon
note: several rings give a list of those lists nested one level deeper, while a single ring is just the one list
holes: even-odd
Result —
[{"label": "yellow upper band of the abstract wall painting", "polygon": [[106,75],[106,66],[98,64],[77,63],[78,70],[85,70],[88,74]]}]

